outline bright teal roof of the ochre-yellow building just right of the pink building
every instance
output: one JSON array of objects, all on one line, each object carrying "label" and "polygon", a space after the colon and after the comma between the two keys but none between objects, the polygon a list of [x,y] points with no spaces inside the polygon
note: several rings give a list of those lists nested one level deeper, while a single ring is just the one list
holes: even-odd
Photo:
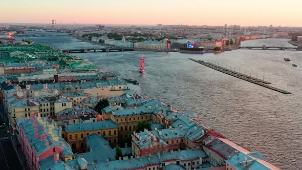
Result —
[{"label": "bright teal roof of the ochre-yellow building just right of the pink building", "polygon": [[80,132],[80,131],[93,131],[93,130],[102,130],[102,129],[112,129],[118,128],[118,125],[112,121],[104,120],[97,122],[88,122],[88,123],[75,123],[68,125],[66,127],[66,132]]}]

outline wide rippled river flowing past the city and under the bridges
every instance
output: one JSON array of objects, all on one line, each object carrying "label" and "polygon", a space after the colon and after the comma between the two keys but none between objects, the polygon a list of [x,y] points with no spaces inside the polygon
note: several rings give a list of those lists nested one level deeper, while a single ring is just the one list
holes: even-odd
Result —
[{"label": "wide rippled river flowing past the city and under the bridges", "polygon": [[[68,36],[26,37],[61,49],[94,46]],[[242,46],[286,46],[287,39],[258,39]],[[74,53],[120,77],[138,80],[142,96],[195,111],[210,128],[261,152],[282,169],[302,168],[302,51],[233,50],[220,54],[143,52]],[[288,57],[291,61],[284,61]],[[271,82],[285,95],[207,68],[188,58],[216,62]],[[295,63],[298,67],[293,67]]]}]

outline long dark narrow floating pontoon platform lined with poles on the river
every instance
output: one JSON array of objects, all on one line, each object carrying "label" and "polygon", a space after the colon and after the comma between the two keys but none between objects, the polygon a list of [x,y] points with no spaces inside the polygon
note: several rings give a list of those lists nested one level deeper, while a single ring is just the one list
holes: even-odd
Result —
[{"label": "long dark narrow floating pontoon platform lined with poles on the river", "polygon": [[223,72],[225,74],[228,74],[228,75],[231,75],[231,76],[234,76],[234,77],[246,80],[246,81],[249,81],[249,82],[254,83],[254,84],[258,84],[259,86],[262,86],[262,87],[265,87],[265,88],[268,88],[268,89],[271,89],[271,90],[274,90],[274,91],[277,91],[277,92],[280,92],[280,93],[283,93],[283,94],[291,94],[290,92],[287,92],[285,90],[281,90],[281,89],[278,89],[278,88],[268,86],[267,84],[271,84],[271,82],[264,81],[264,80],[261,80],[261,79],[255,78],[255,77],[250,77],[250,76],[247,76],[245,74],[235,72],[235,71],[226,69],[226,68],[221,67],[221,66],[214,65],[210,62],[196,60],[196,59],[193,59],[193,58],[189,58],[189,59],[192,60],[192,61],[198,62],[201,65],[204,65],[204,66],[209,67],[211,69]]}]

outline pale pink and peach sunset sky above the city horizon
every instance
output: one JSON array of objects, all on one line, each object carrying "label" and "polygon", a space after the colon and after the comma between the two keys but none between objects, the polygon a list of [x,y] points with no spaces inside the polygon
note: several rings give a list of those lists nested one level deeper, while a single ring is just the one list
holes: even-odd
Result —
[{"label": "pale pink and peach sunset sky above the city horizon", "polygon": [[0,23],[302,27],[302,0],[14,0],[0,7]]}]

